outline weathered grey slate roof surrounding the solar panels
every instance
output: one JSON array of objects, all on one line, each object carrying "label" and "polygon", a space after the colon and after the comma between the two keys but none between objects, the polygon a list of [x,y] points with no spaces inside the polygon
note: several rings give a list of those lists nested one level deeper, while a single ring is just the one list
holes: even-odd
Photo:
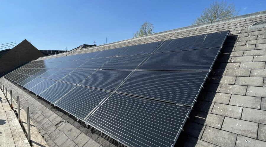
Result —
[{"label": "weathered grey slate roof surrounding the solar panels", "polygon": [[[262,20],[266,20],[266,11],[77,48],[38,60],[230,30],[176,146],[266,146],[266,27],[248,29]],[[115,146],[104,134],[87,129],[4,78],[1,81],[16,91],[15,96],[24,98],[22,106],[34,110],[32,119],[50,146]]]}]

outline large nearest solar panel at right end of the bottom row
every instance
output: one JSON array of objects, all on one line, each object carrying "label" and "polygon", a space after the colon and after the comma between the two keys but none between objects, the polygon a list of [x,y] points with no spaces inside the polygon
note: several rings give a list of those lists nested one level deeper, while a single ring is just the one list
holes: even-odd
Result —
[{"label": "large nearest solar panel at right end of the bottom row", "polygon": [[126,146],[172,146],[191,108],[113,93],[86,119]]}]

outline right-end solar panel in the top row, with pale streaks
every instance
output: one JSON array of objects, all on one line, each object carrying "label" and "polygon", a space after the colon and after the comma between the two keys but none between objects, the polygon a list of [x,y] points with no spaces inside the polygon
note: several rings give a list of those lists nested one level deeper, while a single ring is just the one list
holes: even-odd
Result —
[{"label": "right-end solar panel in the top row, with pale streaks", "polygon": [[220,48],[229,31],[167,40],[156,52]]}]

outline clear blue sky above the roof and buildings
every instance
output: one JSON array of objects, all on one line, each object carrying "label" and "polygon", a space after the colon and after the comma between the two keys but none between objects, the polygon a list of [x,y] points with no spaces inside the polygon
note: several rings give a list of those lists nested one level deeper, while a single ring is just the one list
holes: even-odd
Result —
[{"label": "clear blue sky above the roof and buildings", "polygon": [[[265,0],[236,0],[239,15],[262,11]],[[149,21],[154,32],[190,26],[211,0],[0,0],[0,44],[31,40],[38,49],[68,50],[132,38]],[[1,50],[1,49],[0,49]]]}]

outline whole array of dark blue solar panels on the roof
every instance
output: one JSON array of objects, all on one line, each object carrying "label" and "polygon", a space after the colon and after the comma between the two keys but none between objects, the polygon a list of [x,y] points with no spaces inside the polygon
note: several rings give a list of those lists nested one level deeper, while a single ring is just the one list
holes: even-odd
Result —
[{"label": "whole array of dark blue solar panels on the roof", "polygon": [[5,77],[126,146],[173,146],[228,31],[32,61]]}]

